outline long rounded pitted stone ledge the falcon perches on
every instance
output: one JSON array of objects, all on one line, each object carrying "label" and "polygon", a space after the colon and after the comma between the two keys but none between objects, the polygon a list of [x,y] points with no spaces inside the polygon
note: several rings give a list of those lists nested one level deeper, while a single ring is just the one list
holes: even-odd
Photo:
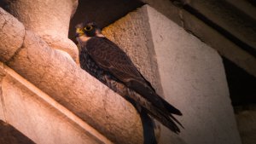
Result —
[{"label": "long rounded pitted stone ledge the falcon perches on", "polygon": [[115,143],[143,143],[137,111],[32,32],[8,65]]}]

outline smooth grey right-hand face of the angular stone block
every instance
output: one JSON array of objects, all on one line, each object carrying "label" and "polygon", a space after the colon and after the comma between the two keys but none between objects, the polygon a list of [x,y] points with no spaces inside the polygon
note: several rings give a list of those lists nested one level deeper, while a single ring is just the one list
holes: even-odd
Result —
[{"label": "smooth grey right-hand face of the angular stone block", "polygon": [[164,94],[183,112],[178,118],[185,127],[180,137],[189,144],[240,144],[218,53],[151,7],[144,9]]}]

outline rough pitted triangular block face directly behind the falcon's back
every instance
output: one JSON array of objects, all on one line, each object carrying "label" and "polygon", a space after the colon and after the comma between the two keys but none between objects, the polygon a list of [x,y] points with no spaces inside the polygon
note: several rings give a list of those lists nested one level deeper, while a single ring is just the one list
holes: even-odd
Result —
[{"label": "rough pitted triangular block face directly behind the falcon's back", "polygon": [[160,76],[145,9],[137,9],[125,15],[105,27],[102,33],[129,55],[137,69],[161,95]]}]

